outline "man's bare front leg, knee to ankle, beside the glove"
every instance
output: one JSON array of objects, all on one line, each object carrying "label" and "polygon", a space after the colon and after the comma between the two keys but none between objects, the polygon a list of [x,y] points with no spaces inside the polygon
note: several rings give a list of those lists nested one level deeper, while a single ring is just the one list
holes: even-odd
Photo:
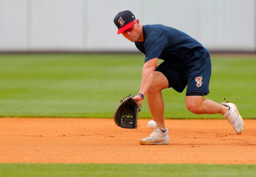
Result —
[{"label": "man's bare front leg, knee to ankle, beside the glove", "polygon": [[168,88],[169,82],[165,75],[159,71],[155,71],[153,84],[147,91],[147,103],[153,120],[157,122],[157,127],[165,130],[163,97],[161,90]]}]

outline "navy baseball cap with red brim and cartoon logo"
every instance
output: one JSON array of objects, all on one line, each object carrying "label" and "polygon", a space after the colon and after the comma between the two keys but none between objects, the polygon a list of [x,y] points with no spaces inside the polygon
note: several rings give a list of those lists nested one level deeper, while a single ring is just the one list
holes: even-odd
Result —
[{"label": "navy baseball cap with red brim and cartoon logo", "polygon": [[120,34],[121,32],[132,27],[134,20],[135,16],[130,10],[119,12],[114,18],[114,23],[118,28],[117,34]]}]

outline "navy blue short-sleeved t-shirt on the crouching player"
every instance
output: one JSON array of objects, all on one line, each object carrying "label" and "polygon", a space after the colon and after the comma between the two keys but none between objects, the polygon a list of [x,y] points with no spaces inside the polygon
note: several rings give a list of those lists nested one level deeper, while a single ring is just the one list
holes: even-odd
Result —
[{"label": "navy blue short-sleeved t-shirt on the crouching player", "polygon": [[161,24],[143,25],[143,42],[135,42],[145,54],[145,63],[153,58],[168,60],[174,67],[187,67],[210,56],[197,40],[175,28]]}]

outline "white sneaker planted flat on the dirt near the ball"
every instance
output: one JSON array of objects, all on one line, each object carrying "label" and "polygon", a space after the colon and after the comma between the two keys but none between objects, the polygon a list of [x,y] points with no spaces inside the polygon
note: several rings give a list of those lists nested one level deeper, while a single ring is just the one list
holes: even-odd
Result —
[{"label": "white sneaker planted flat on the dirt near the ball", "polygon": [[168,135],[168,128],[166,128],[165,133],[163,133],[159,128],[155,128],[154,132],[149,135],[147,138],[139,140],[141,145],[169,145],[170,138]]}]

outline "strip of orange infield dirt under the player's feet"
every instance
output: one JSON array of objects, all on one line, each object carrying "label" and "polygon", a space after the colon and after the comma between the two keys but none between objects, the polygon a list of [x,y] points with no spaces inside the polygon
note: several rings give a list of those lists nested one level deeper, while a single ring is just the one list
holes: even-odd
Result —
[{"label": "strip of orange infield dirt under the player's feet", "polygon": [[166,120],[170,145],[139,145],[137,130],[113,119],[0,118],[0,163],[256,164],[256,120],[236,135],[226,120]]}]

